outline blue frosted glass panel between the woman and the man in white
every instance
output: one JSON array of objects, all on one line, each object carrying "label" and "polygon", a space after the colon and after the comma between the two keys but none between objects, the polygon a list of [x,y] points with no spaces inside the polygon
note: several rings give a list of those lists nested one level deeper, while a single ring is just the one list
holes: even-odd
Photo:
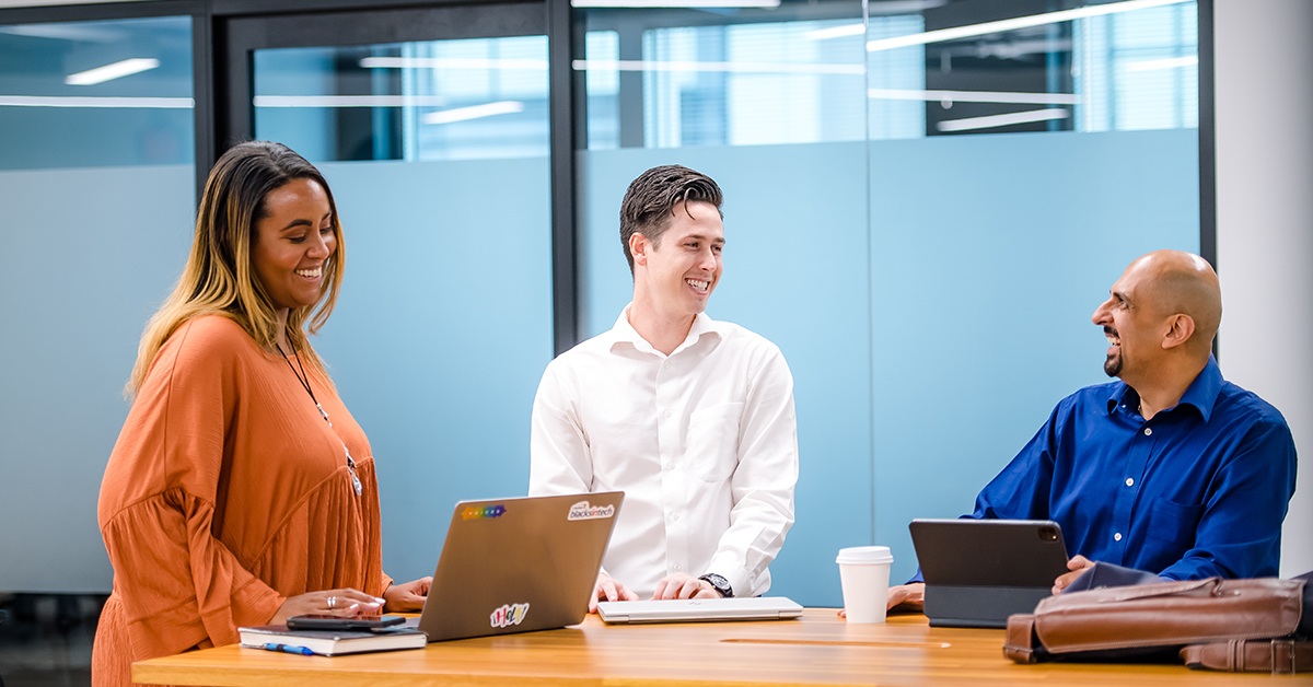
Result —
[{"label": "blue frosted glass panel between the woman and the man in white", "polygon": [[524,495],[551,360],[548,160],[320,166],[347,278],[314,340],[378,461],[383,566],[433,573],[461,499]]}]

